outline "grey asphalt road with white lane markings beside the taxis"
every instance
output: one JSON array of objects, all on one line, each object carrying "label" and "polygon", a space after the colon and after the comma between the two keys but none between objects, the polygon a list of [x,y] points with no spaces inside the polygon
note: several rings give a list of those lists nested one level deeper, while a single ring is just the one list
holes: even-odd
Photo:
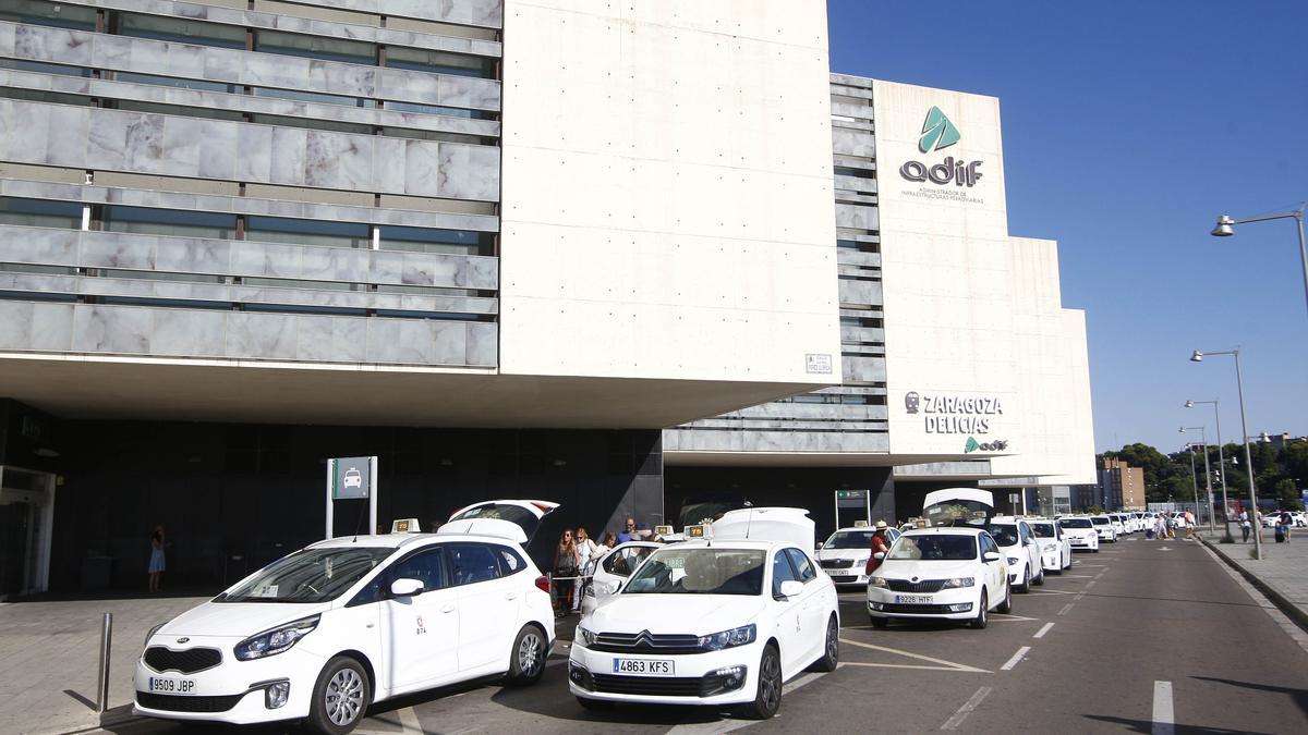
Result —
[{"label": "grey asphalt road with white lane markings beside the taxis", "polygon": [[[360,731],[1308,732],[1308,637],[1283,629],[1210,552],[1134,535],[1075,561],[1014,595],[1012,615],[985,630],[872,630],[862,595],[841,595],[841,667],[791,680],[768,722],[696,708],[589,713],[568,693],[561,651],[535,687],[470,684],[385,702]],[[561,623],[560,636],[574,624]]]}]

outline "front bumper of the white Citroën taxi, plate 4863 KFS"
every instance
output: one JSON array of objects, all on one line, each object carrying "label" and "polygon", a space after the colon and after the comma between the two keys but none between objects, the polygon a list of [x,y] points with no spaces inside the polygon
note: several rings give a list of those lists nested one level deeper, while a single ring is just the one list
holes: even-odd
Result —
[{"label": "front bumper of the white Citro\u00ebn taxi, plate 4863 KFS", "polygon": [[[663,705],[752,702],[757,691],[763,646],[764,641],[755,641],[747,646],[702,654],[646,655],[594,651],[573,642],[568,657],[568,691],[578,697],[608,702]],[[616,674],[615,659],[619,658],[671,660],[674,676]]]}]

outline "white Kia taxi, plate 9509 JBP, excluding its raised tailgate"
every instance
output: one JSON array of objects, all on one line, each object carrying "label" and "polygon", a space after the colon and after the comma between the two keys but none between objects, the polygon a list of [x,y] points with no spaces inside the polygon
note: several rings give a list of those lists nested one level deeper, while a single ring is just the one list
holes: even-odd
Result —
[{"label": "white Kia taxi, plate 9509 JBP, excluding its raised tailgate", "polygon": [[340,735],[408,692],[500,674],[530,684],[555,641],[547,590],[504,535],[442,527],[319,541],[150,630],[135,711],[302,719]]}]

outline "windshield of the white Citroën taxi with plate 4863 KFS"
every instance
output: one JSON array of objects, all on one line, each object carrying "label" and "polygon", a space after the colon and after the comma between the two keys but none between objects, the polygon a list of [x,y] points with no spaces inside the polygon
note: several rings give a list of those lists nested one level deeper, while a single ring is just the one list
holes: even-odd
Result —
[{"label": "windshield of the white Citro\u00ebn taxi with plate 4863 KFS", "polygon": [[761,595],[763,549],[659,549],[636,570],[623,594]]}]

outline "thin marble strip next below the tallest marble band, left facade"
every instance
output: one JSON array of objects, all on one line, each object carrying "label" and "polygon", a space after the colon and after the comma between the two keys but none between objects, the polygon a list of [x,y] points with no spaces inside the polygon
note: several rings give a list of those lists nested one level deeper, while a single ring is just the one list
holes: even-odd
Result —
[{"label": "thin marble strip next below the tallest marble band, left facade", "polygon": [[[0,109],[4,107],[4,103],[5,101],[0,99]],[[5,128],[3,127],[4,120],[5,116],[3,111],[0,111],[0,132],[5,132]],[[254,129],[254,127],[251,127],[251,129]],[[0,150],[4,150],[7,144],[7,136],[0,135]],[[170,209],[229,212],[233,214],[268,214],[301,220],[368,222],[373,225],[475,230],[484,233],[493,233],[500,229],[500,218],[493,214],[420,212],[416,209],[378,209],[371,207],[352,207],[348,204],[318,204],[311,201],[288,201],[281,199],[259,199],[252,196],[186,194],[177,191],[153,191],[7,178],[0,178],[0,196],[58,199],[61,201],[84,201],[86,204],[167,207]]]}]

